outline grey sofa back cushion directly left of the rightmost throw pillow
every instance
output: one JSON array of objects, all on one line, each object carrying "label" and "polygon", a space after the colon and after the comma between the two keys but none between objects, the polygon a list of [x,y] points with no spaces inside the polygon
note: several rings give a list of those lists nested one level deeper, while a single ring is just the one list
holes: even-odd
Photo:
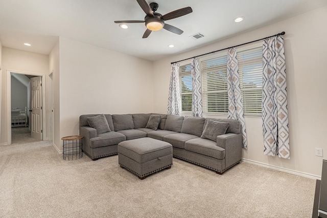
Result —
[{"label": "grey sofa back cushion directly left of the rightmost throw pillow", "polygon": [[200,137],[204,120],[203,117],[184,117],[180,132]]}]

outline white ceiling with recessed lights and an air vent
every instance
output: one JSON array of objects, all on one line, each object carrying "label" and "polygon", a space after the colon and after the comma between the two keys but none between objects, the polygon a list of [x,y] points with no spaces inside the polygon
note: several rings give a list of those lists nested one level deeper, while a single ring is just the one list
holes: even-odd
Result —
[{"label": "white ceiling with recessed lights and an air vent", "polygon": [[[166,23],[184,31],[165,29],[143,39],[144,24],[124,30],[114,20],[143,20],[136,0],[0,0],[0,41],[4,47],[49,54],[58,36],[101,48],[158,60],[165,56],[266,26],[327,6],[327,0],[147,0],[164,15],[184,7],[193,12]],[[233,19],[243,16],[244,21]],[[190,36],[202,33],[203,38]],[[253,39],[256,39],[255,37]],[[31,47],[23,45],[32,44]],[[173,44],[175,48],[168,48]]]}]

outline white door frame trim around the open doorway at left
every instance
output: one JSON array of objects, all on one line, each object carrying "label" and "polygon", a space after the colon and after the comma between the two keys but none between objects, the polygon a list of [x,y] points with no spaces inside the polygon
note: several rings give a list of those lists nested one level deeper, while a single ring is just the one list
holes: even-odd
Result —
[{"label": "white door frame trim around the open doorway at left", "polygon": [[11,73],[40,76],[42,79],[42,140],[46,138],[45,74],[7,70],[7,144],[11,144]]}]

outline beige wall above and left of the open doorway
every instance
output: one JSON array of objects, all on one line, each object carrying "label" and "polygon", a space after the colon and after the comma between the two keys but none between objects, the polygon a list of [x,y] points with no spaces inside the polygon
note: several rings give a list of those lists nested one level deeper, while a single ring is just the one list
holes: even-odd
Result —
[{"label": "beige wall above and left of the open doorway", "polygon": [[[48,75],[48,55],[3,47],[2,50],[1,141],[7,143],[7,70]],[[45,78],[48,79],[48,78]],[[47,117],[48,119],[48,117]],[[44,129],[44,128],[43,128]]]}]

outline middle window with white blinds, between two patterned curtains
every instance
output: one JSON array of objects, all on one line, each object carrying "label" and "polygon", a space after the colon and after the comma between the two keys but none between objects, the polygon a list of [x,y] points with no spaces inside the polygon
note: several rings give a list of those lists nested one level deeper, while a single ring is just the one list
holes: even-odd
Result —
[{"label": "middle window with white blinds, between two patterned curtains", "polygon": [[227,55],[201,61],[204,113],[228,113]]}]

